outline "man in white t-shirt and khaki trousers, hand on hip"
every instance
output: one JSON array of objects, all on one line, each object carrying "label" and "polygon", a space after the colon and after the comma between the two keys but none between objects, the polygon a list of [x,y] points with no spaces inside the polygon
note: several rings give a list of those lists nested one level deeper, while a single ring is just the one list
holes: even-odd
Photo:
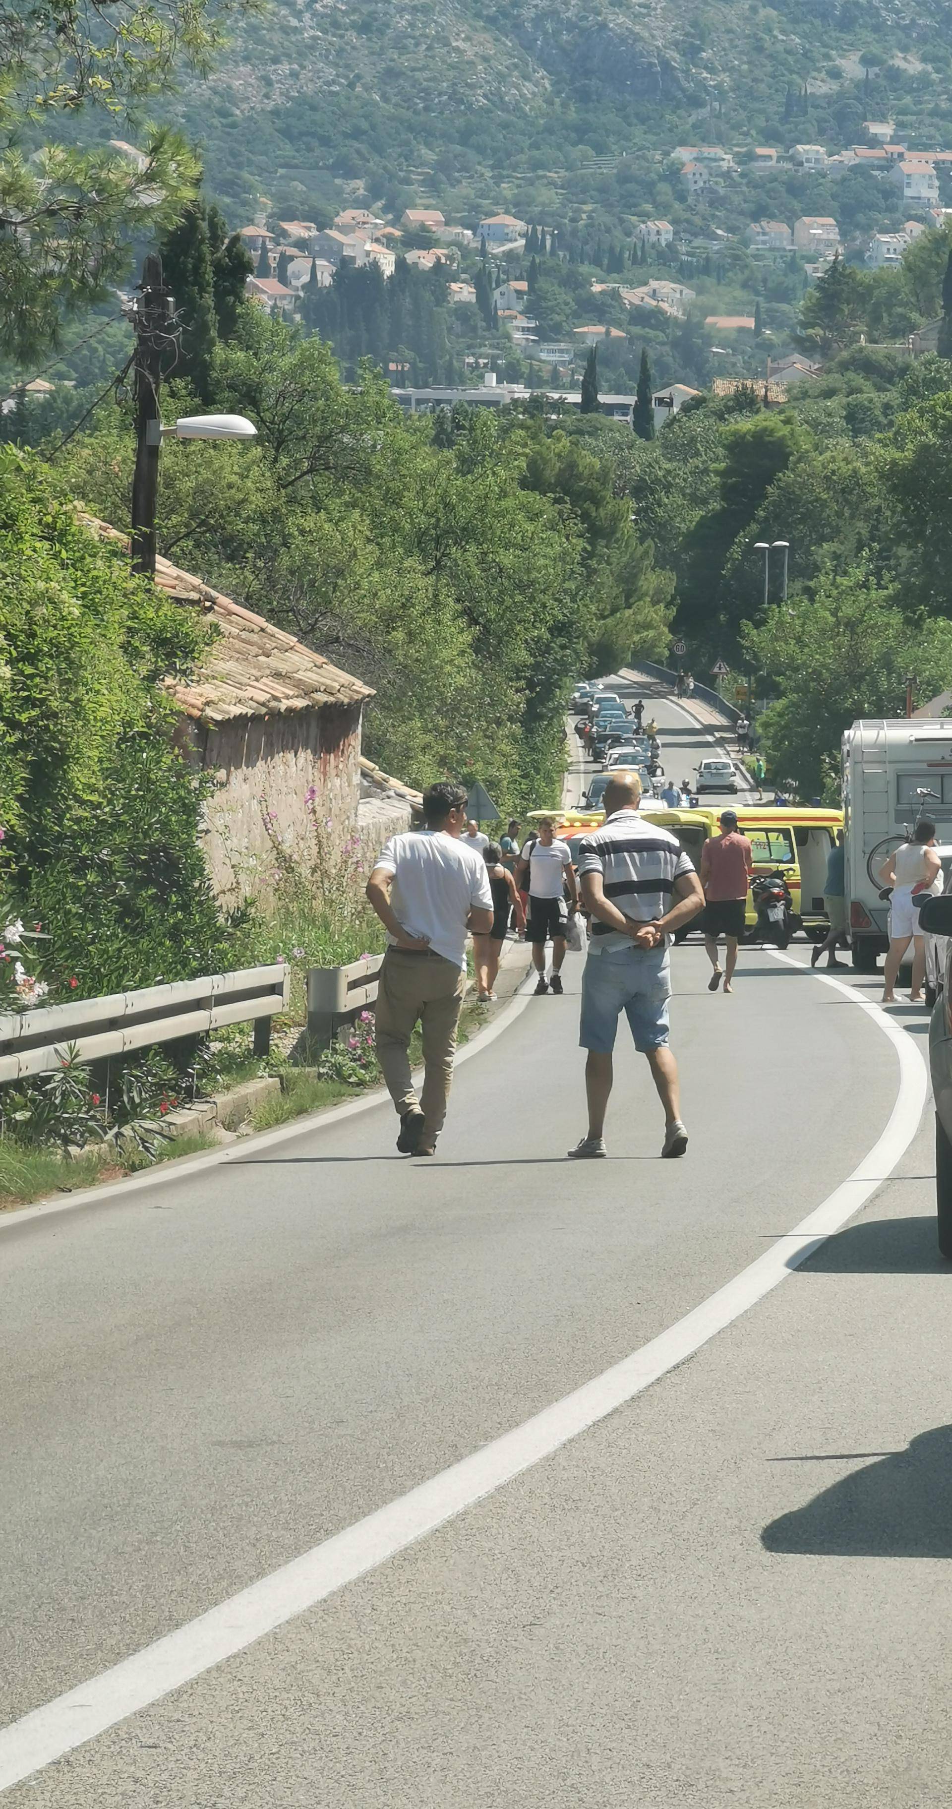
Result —
[{"label": "man in white t-shirt and khaki trousers, hand on hip", "polygon": [[[433,1156],[452,1082],[456,1026],[467,980],[467,928],[489,935],[492,890],[481,848],[463,836],[462,785],[431,785],[425,829],[391,836],[367,879],[387,932],[376,988],[376,1055],[400,1113],[396,1149]],[[424,1091],[416,1098],[409,1040],[424,1029]]]}]

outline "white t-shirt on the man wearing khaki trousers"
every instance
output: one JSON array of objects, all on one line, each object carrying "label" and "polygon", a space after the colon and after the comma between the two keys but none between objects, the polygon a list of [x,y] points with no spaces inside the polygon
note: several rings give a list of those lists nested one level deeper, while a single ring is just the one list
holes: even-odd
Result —
[{"label": "white t-shirt on the man wearing khaki trousers", "polygon": [[474,904],[492,910],[487,865],[469,841],[443,829],[409,830],[391,836],[373,863],[393,874],[391,904],[404,930],[425,935],[429,946],[458,968],[465,968],[467,959],[469,912]]}]

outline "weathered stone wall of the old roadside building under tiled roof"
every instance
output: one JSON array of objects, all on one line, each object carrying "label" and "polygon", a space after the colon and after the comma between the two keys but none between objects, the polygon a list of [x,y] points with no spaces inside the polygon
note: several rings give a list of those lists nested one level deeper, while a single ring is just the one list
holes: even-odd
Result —
[{"label": "weathered stone wall of the old roadside building under tiled roof", "polygon": [[215,780],[206,805],[205,856],[226,904],[246,894],[268,897],[271,836],[284,847],[313,839],[311,785],[328,848],[337,854],[353,838],[360,798],[358,704],[190,724],[188,743]]}]

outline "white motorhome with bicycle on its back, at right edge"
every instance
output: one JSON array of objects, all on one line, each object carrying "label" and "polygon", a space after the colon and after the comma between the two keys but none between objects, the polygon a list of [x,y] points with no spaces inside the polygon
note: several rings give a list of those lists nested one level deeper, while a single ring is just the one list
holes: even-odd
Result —
[{"label": "white motorhome with bicycle on its back, at right edge", "polygon": [[952,841],[952,716],[854,722],[843,734],[843,816],[852,966],[874,973],[889,946],[878,868],[921,816]]}]

